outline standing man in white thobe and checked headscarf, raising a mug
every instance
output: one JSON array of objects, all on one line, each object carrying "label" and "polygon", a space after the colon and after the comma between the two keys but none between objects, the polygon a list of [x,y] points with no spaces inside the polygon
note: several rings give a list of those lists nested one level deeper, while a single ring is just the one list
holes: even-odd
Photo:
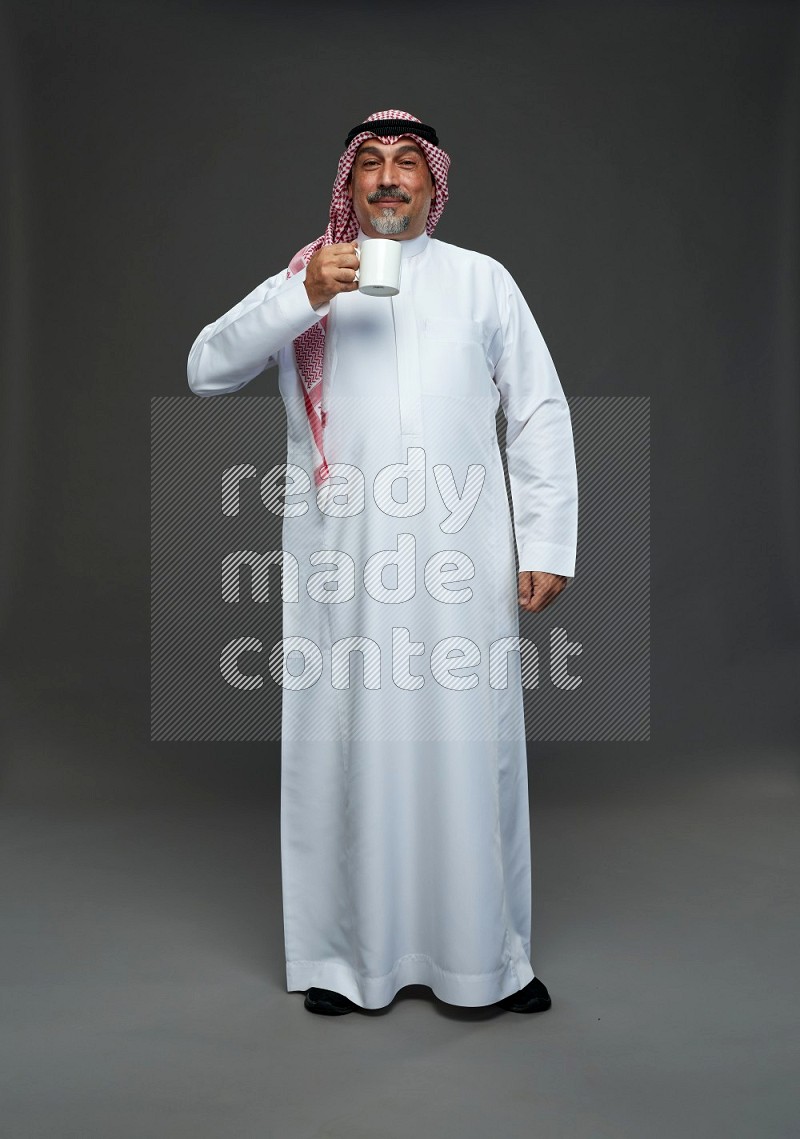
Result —
[{"label": "standing man in white thobe and checked headscarf, raising a mug", "polygon": [[[270,662],[287,989],[327,1015],[408,984],[452,1005],[550,1006],[530,961],[517,600],[540,613],[574,573],[572,432],[511,274],[431,237],[449,165],[407,112],[359,123],[325,233],[189,355],[204,396],[279,364],[284,556],[336,567],[284,593]],[[357,248],[378,238],[401,246],[392,297],[358,290]]]}]

